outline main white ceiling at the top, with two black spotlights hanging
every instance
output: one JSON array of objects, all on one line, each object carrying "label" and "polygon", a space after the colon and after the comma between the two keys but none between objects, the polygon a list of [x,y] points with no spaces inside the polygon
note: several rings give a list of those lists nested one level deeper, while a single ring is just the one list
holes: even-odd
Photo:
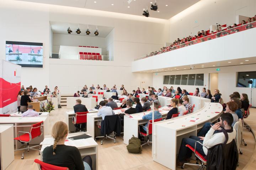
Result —
[{"label": "main white ceiling at the top, with two black spotlights hanging", "polygon": [[[142,16],[143,9],[148,6],[150,17],[169,19],[181,11],[192,6],[200,0],[156,0],[158,11],[150,10],[150,2],[155,0],[20,0],[29,2],[38,2],[43,4],[53,4],[62,6],[72,6],[93,10],[110,11],[118,13],[127,13],[131,15]],[[96,2],[96,3],[95,3]],[[114,5],[111,5],[114,4]],[[168,6],[166,6],[168,5]],[[129,6],[129,8],[128,8]]]}]

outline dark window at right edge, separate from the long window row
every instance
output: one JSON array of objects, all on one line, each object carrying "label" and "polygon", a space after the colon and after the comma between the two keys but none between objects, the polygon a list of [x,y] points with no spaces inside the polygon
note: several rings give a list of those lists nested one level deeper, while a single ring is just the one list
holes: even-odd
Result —
[{"label": "dark window at right edge, separate from the long window row", "polygon": [[[250,80],[252,80],[252,84],[248,83]],[[256,88],[256,71],[238,72],[236,87]]]}]

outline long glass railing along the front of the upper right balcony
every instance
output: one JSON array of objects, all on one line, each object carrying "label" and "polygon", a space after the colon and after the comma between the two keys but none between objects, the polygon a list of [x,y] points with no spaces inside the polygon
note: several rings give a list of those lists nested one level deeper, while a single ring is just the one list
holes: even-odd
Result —
[{"label": "long glass railing along the front of the upper right balcony", "polygon": [[166,52],[169,52],[169,51],[172,51],[172,50],[180,49],[180,48],[190,46],[190,45],[193,45],[193,44],[205,42],[205,41],[212,40],[212,39],[215,39],[215,38],[223,37],[223,36],[226,36],[226,35],[229,35],[229,34],[234,34],[234,33],[237,33],[237,32],[245,31],[247,29],[251,29],[251,28],[255,28],[255,27],[256,27],[256,21],[250,22],[250,23],[238,26],[238,27],[223,30],[223,31],[215,33],[215,34],[210,34],[210,35],[207,35],[205,37],[201,37],[201,38],[198,38],[198,39],[195,39],[195,40],[191,40],[191,41],[188,41],[188,42],[181,42],[181,44],[177,44],[177,45],[172,46],[172,47],[167,47],[164,50],[156,51],[155,53],[151,53],[151,54],[147,54],[147,55],[135,58],[134,61],[144,59],[144,58],[147,58],[147,57],[151,57],[151,56],[154,56],[154,55],[166,53]]}]

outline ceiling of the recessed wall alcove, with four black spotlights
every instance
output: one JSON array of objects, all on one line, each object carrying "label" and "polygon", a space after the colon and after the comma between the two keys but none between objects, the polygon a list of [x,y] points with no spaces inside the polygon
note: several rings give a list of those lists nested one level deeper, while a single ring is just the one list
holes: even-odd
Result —
[{"label": "ceiling of the recessed wall alcove, with four black spotlights", "polygon": [[[67,22],[54,22],[50,21],[53,33],[57,34],[68,34],[68,27],[70,27],[72,33],[71,35],[85,35],[95,37],[94,32],[96,31],[95,25],[88,25],[89,31],[91,32],[90,35],[86,35],[87,24],[78,24],[78,23],[67,23]],[[77,34],[76,29],[80,28],[81,33]],[[112,31],[113,27],[105,27],[105,26],[97,26],[98,28],[98,36],[97,37],[107,37],[107,35]]]}]

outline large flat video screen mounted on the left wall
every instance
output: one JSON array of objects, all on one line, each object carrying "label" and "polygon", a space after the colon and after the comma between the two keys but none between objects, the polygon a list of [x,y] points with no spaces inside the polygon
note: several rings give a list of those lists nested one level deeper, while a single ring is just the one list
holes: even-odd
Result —
[{"label": "large flat video screen mounted on the left wall", "polygon": [[43,68],[43,43],[6,41],[6,61],[21,67]]}]

